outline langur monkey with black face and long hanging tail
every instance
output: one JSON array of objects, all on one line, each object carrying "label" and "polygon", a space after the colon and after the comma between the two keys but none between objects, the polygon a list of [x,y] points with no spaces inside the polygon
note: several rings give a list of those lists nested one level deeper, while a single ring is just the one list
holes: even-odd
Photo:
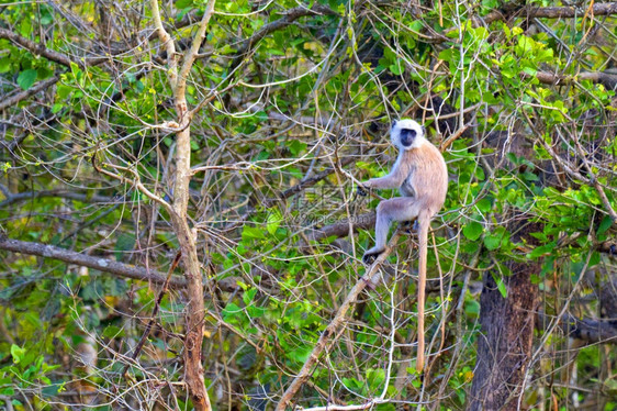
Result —
[{"label": "langur monkey with black face and long hanging tail", "polygon": [[418,354],[416,370],[424,369],[424,301],[426,288],[426,258],[430,220],[441,209],[448,191],[448,169],[439,149],[425,137],[425,130],[414,120],[394,121],[390,131],[399,157],[390,174],[371,178],[358,187],[364,189],[399,188],[402,197],[383,200],[377,207],[375,245],[362,256],[364,264],[374,262],[385,249],[392,221],[416,220],[419,242],[418,258]]}]

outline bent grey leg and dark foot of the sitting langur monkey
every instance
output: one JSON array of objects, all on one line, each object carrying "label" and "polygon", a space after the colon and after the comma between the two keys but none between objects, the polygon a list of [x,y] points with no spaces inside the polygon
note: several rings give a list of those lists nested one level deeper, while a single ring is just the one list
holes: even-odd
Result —
[{"label": "bent grey leg and dark foot of the sitting langur monkey", "polygon": [[417,218],[420,207],[413,197],[397,197],[384,200],[377,207],[375,245],[362,256],[366,264],[371,264],[385,249],[388,232],[392,221],[412,221]]}]

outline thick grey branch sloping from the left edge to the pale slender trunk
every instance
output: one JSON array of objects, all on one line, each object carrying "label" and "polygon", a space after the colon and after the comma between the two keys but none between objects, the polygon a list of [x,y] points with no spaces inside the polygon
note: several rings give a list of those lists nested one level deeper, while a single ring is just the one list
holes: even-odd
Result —
[{"label": "thick grey branch sloping from the left edge to the pale slender trunk", "polygon": [[[53,258],[68,264],[94,268],[99,271],[109,273],[122,278],[132,278],[141,281],[154,282],[157,285],[164,285],[166,281],[166,276],[156,270],[134,267],[124,263],[114,262],[112,259],[90,256],[53,245],[11,240],[1,234],[0,249],[5,249],[12,253],[36,255],[45,258]],[[182,288],[184,287],[184,284],[186,281],[181,278],[171,278],[169,281],[169,285],[176,288]]]}]

